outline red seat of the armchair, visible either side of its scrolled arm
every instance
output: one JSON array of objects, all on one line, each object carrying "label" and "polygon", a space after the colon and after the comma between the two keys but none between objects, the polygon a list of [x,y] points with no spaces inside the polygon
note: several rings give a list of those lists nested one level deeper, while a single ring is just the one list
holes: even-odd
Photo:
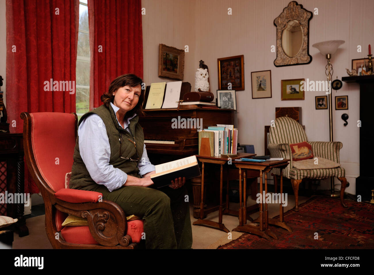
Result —
[{"label": "red seat of the armchair, visible either side of its scrolled arm", "polygon": [[[134,220],[127,223],[126,234],[131,236],[132,242],[140,242],[143,229],[143,220]],[[61,230],[65,241],[72,244],[98,244],[92,237],[88,226],[65,226]]]}]

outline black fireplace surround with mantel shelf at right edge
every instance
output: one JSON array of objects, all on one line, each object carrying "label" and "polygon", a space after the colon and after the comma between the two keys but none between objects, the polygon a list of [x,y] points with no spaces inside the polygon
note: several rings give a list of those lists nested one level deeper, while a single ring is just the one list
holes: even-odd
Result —
[{"label": "black fireplace surround with mantel shelf at right edge", "polygon": [[[373,152],[373,104],[374,104],[374,75],[349,76],[341,79],[347,83],[358,83],[360,85],[360,176],[356,178],[356,194],[361,195],[365,201],[370,201],[371,190],[374,189]],[[357,95],[356,95],[357,96]],[[357,123],[353,121],[352,123]]]}]

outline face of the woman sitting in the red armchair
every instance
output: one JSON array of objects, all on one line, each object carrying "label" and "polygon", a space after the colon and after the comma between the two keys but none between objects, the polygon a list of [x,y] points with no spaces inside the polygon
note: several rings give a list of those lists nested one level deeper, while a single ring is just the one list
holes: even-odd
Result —
[{"label": "face of the woman sitting in the red armchair", "polygon": [[114,93],[114,106],[117,106],[120,110],[128,112],[134,109],[137,106],[140,95],[141,95],[141,86],[123,86],[118,88]]}]

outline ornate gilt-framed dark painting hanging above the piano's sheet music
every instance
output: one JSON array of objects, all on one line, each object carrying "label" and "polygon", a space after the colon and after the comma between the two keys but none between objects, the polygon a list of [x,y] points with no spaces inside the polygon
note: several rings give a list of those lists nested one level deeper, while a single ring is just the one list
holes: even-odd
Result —
[{"label": "ornate gilt-framed dark painting hanging above the piano's sheet music", "polygon": [[183,80],[184,50],[159,45],[159,76]]}]

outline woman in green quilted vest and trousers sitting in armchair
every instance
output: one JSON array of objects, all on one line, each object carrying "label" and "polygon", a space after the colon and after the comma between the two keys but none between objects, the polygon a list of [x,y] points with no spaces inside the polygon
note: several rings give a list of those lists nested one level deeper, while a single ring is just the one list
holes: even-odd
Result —
[{"label": "woman in green quilted vest and trousers sitting in armchair", "polygon": [[186,178],[152,188],[155,167],[138,123],[142,82],[134,74],[117,77],[101,96],[104,104],[79,120],[70,188],[101,192],[127,215],[142,217],[146,248],[191,248]]}]

